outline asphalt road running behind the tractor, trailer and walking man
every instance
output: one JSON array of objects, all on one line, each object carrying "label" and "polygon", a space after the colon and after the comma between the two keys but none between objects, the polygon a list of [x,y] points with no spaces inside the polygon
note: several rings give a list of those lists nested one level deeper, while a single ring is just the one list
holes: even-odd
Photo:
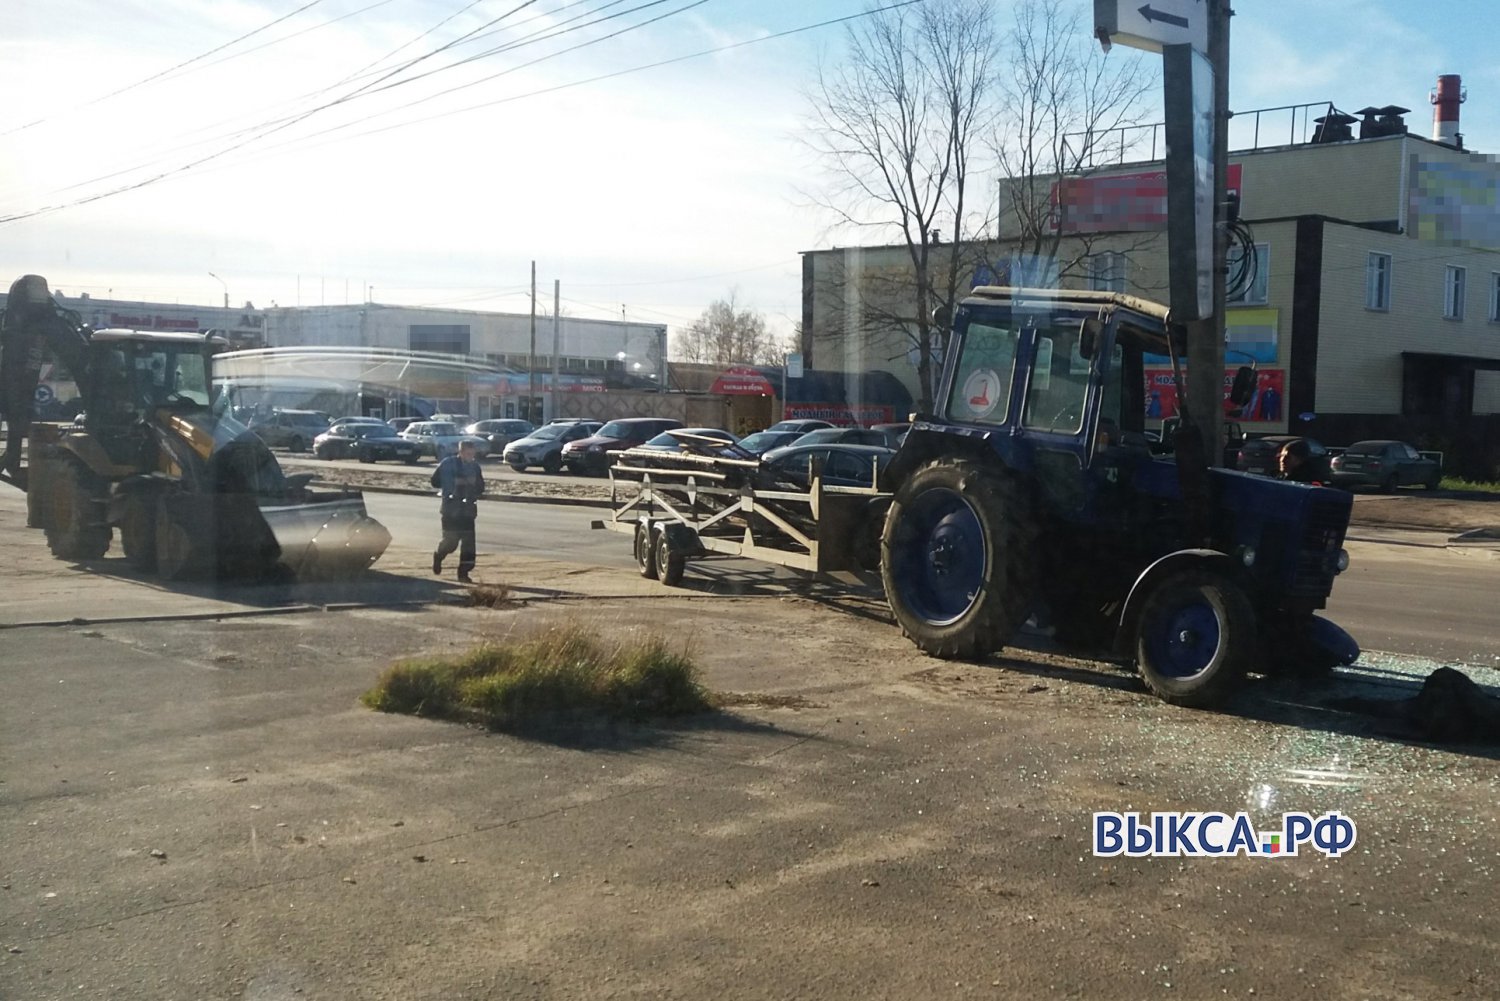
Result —
[{"label": "asphalt road running behind the tractor, trailer and walking man", "polygon": [[[400,545],[430,546],[438,537],[436,503],[426,497],[366,494],[370,512]],[[482,567],[504,567],[504,554],[552,557],[633,573],[630,540],[591,531],[603,509],[484,503],[478,516]],[[1500,552],[1484,548],[1352,542],[1350,569],[1334,587],[1328,615],[1371,651],[1434,660],[1500,665],[1494,629]],[[748,560],[716,561],[716,576],[784,578]],[[688,564],[693,573],[693,564]]]}]

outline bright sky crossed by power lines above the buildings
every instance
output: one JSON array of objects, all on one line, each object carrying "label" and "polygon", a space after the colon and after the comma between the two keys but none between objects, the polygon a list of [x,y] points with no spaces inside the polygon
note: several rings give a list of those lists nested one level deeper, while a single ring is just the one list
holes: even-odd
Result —
[{"label": "bright sky crossed by power lines above the buildings", "polygon": [[[0,216],[168,176],[0,227],[0,275],[36,272],[69,294],[165,302],[218,303],[225,291],[258,306],[360,302],[372,287],[376,302],[524,309],[534,258],[546,300],[560,279],[573,315],[618,318],[624,309],[632,320],[687,323],[730,288],[778,329],[798,315],[796,252],[832,239],[830,219],[798,195],[813,176],[796,143],[802,92],[819,57],[837,59],[840,30],[582,81],[856,14],[864,3],[706,0],[534,65],[524,63],[604,29],[494,53],[266,131],[310,107],[306,95],[327,102],[370,84],[375,75],[346,78],[381,59],[390,66],[398,47],[411,57],[525,0],[462,12],[460,0],[316,0],[208,54],[303,3],[4,5]],[[603,0],[564,3],[534,0],[506,21],[508,35],[450,54],[560,30],[562,18]],[[1004,21],[1010,5],[998,6]],[[1428,90],[1437,74],[1458,72],[1470,92],[1468,146],[1500,150],[1500,60],[1486,51],[1500,5],[1434,11],[1392,0],[1244,0],[1232,104],[1400,104],[1426,135]],[[264,42],[276,44],[258,48]],[[130,87],[164,71],[172,72]],[[182,170],[194,161],[202,162]]]}]

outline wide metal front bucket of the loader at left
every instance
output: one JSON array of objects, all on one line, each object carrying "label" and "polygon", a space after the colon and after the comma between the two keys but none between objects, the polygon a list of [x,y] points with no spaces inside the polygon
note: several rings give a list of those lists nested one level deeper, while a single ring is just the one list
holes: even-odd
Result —
[{"label": "wide metal front bucket of the loader at left", "polygon": [[360,573],[390,545],[390,531],[369,516],[358,495],[260,510],[280,546],[280,564],[298,579]]}]

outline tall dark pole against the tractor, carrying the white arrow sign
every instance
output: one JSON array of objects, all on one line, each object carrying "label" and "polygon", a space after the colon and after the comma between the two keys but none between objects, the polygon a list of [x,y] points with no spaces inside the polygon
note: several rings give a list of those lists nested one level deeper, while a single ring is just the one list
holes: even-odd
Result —
[{"label": "tall dark pole against the tractor, carrying the white arrow sign", "polygon": [[1188,341],[1188,407],[1209,465],[1224,464],[1224,279],[1228,248],[1228,0],[1208,0],[1209,63],[1214,68],[1214,311],[1192,324]]}]

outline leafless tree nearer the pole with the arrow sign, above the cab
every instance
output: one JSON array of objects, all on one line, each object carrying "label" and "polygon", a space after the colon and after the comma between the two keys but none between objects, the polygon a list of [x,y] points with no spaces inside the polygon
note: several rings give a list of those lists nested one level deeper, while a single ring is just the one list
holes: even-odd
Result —
[{"label": "leafless tree nearer the pole with the arrow sign, above the cab", "polygon": [[1000,237],[1017,254],[1047,261],[1056,281],[1095,254],[1096,234],[1070,218],[1070,194],[1082,191],[1083,174],[1125,158],[1156,83],[1143,60],[1101,51],[1082,15],[1068,0],[1018,0],[992,140],[1002,174]]}]

